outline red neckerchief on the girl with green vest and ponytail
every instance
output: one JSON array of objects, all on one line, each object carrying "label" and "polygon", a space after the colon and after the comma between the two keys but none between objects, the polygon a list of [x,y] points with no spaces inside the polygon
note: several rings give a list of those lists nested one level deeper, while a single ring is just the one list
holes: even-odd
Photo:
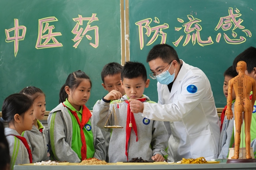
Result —
[{"label": "red neckerchief on the girl with green vest and ponytail", "polygon": [[[63,104],[63,103],[62,103]],[[64,107],[68,108],[66,105],[63,104]],[[69,108],[68,108],[69,109]],[[76,121],[80,127],[80,135],[81,135],[81,141],[82,141],[82,147],[81,147],[81,157],[82,160],[87,158],[87,147],[86,147],[86,137],[83,133],[83,127],[88,123],[90,117],[92,116],[90,110],[86,106],[82,106],[82,123],[80,123],[80,120],[77,116],[76,111],[72,111],[69,109],[69,111],[75,116]]]}]

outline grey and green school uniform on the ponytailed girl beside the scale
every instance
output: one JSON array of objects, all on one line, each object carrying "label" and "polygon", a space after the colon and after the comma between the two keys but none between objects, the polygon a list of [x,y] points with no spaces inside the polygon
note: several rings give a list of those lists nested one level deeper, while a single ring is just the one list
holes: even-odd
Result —
[{"label": "grey and green school uniform on the ponytailed girl beside the scale", "polygon": [[[63,104],[66,105],[63,106]],[[54,108],[48,117],[49,135],[53,157],[59,161],[81,161],[81,135],[80,127],[69,109],[75,108],[66,100]],[[76,111],[81,118],[82,107]],[[91,112],[90,112],[91,113]],[[81,121],[81,119],[80,119]],[[99,128],[92,123],[92,118],[83,127],[87,145],[87,158],[105,160],[104,137]]]}]

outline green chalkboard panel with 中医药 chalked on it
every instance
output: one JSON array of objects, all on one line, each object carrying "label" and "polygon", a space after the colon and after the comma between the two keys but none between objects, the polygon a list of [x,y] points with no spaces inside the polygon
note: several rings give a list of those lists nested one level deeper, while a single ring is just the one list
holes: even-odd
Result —
[{"label": "green chalkboard panel with \u4e2d\u533b\u836f chalked on it", "polygon": [[68,75],[80,69],[92,80],[92,109],[106,94],[102,67],[121,63],[120,36],[120,0],[1,0],[0,108],[8,95],[36,86],[51,110]]}]

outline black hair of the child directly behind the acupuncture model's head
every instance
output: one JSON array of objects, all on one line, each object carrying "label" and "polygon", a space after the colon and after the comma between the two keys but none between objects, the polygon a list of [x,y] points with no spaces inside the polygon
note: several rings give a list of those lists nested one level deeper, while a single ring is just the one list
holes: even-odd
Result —
[{"label": "black hair of the child directly behind the acupuncture model's head", "polygon": [[240,53],[233,61],[233,70],[236,70],[237,63],[239,61],[245,61],[247,66],[247,71],[250,74],[254,67],[256,67],[256,48],[250,46],[245,51]]}]

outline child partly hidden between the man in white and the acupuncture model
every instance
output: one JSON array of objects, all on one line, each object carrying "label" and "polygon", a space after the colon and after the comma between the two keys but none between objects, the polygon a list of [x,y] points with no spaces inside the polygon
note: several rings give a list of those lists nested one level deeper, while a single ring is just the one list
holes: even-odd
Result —
[{"label": "child partly hidden between the man in white and the acupuncture model", "polygon": [[[224,72],[224,84],[223,84],[223,93],[227,98],[228,95],[228,82],[230,79],[236,77],[238,75],[236,70],[233,70],[232,66],[228,67],[228,69]],[[234,102],[236,100],[236,94],[234,94],[234,90],[232,90],[232,111],[234,112]],[[227,106],[223,109],[221,113],[221,136],[219,143],[219,159],[225,159],[228,157],[229,148],[233,148],[232,145],[234,143],[234,116],[232,119],[227,119],[225,116]],[[222,118],[223,117],[223,118]],[[223,126],[222,126],[223,123]]]}]

